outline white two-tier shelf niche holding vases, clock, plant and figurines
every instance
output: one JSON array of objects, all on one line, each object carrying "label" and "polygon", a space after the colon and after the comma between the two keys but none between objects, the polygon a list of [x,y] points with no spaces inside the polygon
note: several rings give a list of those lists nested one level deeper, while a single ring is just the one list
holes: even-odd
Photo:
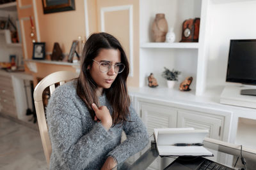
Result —
[{"label": "white two-tier shelf niche holding vases, clock, plant and figurines", "polygon": [[[204,39],[204,11],[202,0],[141,0],[140,8],[140,87],[147,86],[147,76],[153,73],[160,87],[166,87],[166,80],[161,76],[164,67],[178,70],[182,73],[179,81],[187,76],[193,77],[191,88],[196,95],[202,94],[205,81],[205,63],[202,58],[202,45]],[[168,29],[173,27],[175,33],[174,43],[152,42],[152,23],[157,13],[164,13]],[[182,23],[189,18],[201,18],[199,42],[180,43]],[[198,67],[200,66],[200,67]],[[175,87],[177,88],[177,87]]]}]

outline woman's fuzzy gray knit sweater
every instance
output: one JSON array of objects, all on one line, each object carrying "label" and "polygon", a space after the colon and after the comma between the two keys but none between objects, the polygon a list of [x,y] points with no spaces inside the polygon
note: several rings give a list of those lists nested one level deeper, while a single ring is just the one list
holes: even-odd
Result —
[{"label": "woman's fuzzy gray knit sweater", "polygon": [[[113,109],[106,96],[99,97],[101,106]],[[83,101],[76,94],[76,81],[56,88],[46,109],[52,143],[50,169],[100,169],[111,156],[119,164],[142,150],[148,143],[145,125],[130,106],[131,117],[109,131],[93,121]],[[121,143],[122,131],[127,139]]]}]

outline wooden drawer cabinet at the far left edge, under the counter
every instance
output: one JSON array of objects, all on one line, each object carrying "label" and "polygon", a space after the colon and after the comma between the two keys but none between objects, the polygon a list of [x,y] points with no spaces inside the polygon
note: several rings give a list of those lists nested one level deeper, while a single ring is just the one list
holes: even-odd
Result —
[{"label": "wooden drawer cabinet at the far left edge, under the counter", "polygon": [[12,77],[0,74],[0,80],[0,112],[4,113],[4,115],[17,118]]}]

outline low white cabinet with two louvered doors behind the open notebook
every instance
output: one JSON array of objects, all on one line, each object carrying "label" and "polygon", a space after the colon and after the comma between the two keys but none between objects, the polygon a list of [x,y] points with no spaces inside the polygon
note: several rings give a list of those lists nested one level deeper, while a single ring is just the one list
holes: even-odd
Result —
[{"label": "low white cabinet with two louvered doors behind the open notebook", "polygon": [[134,96],[138,101],[141,119],[147,126],[148,136],[154,128],[166,127],[194,127],[195,129],[209,129],[207,137],[228,141],[230,132],[231,112],[176,104],[172,101],[163,102],[158,99],[146,99]]}]

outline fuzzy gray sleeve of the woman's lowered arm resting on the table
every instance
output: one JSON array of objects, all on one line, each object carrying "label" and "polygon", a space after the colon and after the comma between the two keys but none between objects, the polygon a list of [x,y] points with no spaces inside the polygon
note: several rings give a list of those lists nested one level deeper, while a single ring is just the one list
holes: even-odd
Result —
[{"label": "fuzzy gray sleeve of the woman's lowered arm resting on the table", "polygon": [[135,153],[140,152],[140,150],[143,150],[148,144],[147,129],[131,106],[130,114],[131,117],[128,117],[128,120],[131,122],[127,121],[123,125],[127,139],[108,153],[108,156],[115,158],[118,164],[124,162],[125,159]]}]

